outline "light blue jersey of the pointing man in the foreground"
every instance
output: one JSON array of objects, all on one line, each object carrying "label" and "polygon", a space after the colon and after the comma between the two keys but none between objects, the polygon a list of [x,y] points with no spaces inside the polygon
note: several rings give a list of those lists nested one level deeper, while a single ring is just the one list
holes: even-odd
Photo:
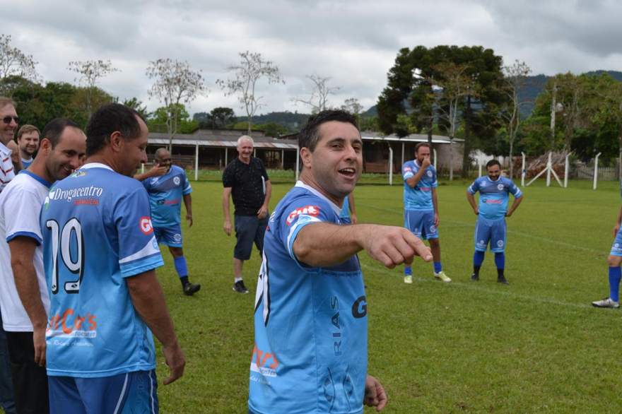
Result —
[{"label": "light blue jersey of the pointing man in the foreground", "polygon": [[317,268],[293,253],[300,230],[320,222],[342,224],[339,207],[302,182],[270,217],[255,298],[253,413],[363,413],[368,320],[358,257]]}]

